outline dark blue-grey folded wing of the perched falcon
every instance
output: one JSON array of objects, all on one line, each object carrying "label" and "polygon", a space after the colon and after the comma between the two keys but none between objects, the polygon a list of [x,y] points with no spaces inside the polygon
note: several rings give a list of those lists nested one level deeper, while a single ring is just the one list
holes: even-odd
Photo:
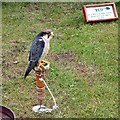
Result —
[{"label": "dark blue-grey folded wing of the perched falcon", "polygon": [[32,42],[32,46],[29,54],[29,61],[38,62],[45,46],[45,42],[42,39],[35,39]]}]

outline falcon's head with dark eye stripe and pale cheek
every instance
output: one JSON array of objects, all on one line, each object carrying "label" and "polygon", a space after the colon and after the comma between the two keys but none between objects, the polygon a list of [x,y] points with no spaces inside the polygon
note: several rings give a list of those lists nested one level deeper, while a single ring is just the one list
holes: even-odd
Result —
[{"label": "falcon's head with dark eye stripe and pale cheek", "polygon": [[50,40],[54,37],[54,33],[51,29],[46,29],[40,33],[40,36],[43,37],[44,39]]}]

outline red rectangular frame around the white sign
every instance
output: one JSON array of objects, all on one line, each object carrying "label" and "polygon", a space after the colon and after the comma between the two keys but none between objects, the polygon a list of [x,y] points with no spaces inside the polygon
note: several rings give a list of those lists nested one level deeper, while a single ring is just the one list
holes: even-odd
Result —
[{"label": "red rectangular frame around the white sign", "polygon": [[[111,5],[113,8],[113,12],[114,12],[114,18],[108,18],[108,19],[100,19],[100,20],[88,20],[88,16],[87,16],[87,8],[88,7],[100,7],[100,6],[106,6],[106,5]],[[116,6],[115,3],[104,3],[104,4],[91,4],[91,5],[83,5],[82,7],[83,13],[84,13],[84,19],[85,22],[102,22],[102,21],[110,21],[110,20],[118,20],[118,14],[117,14],[117,10],[116,10]]]}]

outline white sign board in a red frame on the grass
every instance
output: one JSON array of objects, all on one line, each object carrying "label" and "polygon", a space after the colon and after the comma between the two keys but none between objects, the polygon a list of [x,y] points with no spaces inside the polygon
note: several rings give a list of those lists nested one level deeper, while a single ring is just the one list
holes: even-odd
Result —
[{"label": "white sign board in a red frame on the grass", "polygon": [[115,3],[83,5],[83,12],[86,22],[100,22],[118,19]]}]

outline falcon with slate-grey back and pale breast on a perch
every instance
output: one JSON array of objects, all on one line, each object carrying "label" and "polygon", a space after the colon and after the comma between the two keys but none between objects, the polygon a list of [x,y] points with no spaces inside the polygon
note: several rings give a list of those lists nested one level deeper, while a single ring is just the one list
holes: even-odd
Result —
[{"label": "falcon with slate-grey back and pale breast on a perch", "polygon": [[48,54],[50,49],[50,40],[54,36],[52,30],[47,29],[40,32],[33,40],[30,53],[29,53],[29,64],[26,69],[24,79],[28,76],[31,70],[41,62],[42,59]]}]

